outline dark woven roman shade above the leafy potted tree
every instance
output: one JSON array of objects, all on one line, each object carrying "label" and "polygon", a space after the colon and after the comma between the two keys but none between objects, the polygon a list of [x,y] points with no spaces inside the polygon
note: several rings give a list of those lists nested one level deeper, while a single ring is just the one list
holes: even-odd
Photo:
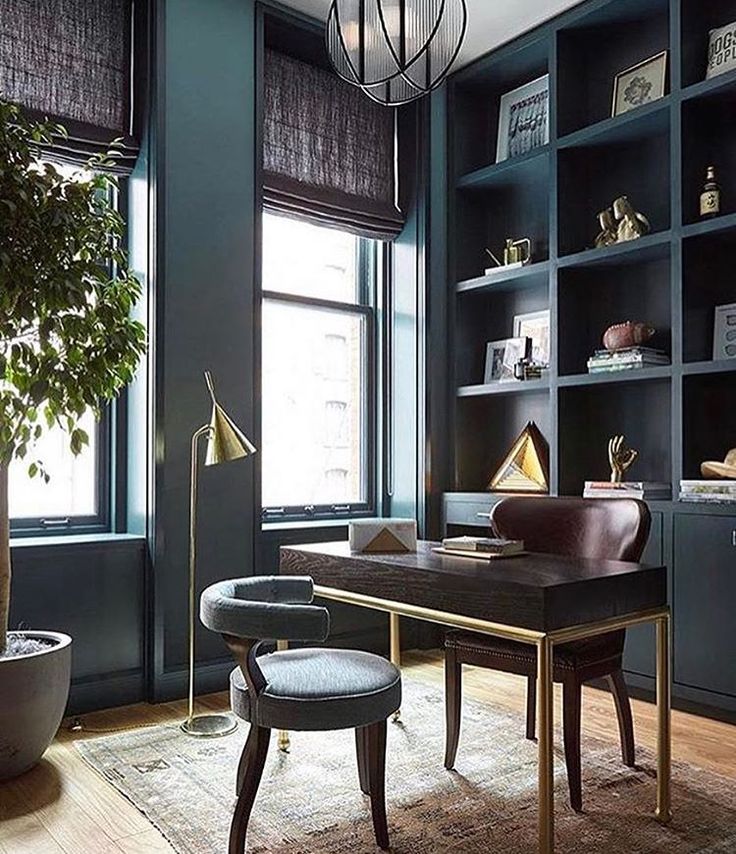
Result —
[{"label": "dark woven roman shade above the leafy potted tree", "polygon": [[[130,0],[0,0],[0,97],[64,125],[54,154],[79,162],[131,136]],[[126,163],[127,161],[127,163]]]}]

